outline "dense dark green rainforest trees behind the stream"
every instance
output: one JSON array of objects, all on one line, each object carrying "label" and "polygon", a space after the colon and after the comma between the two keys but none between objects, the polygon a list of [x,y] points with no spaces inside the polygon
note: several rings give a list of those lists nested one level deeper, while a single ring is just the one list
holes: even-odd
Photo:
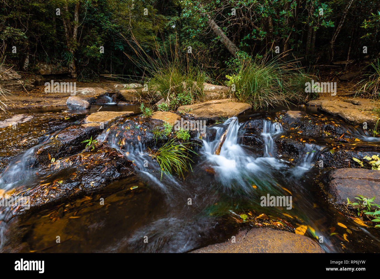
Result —
[{"label": "dense dark green rainforest trees behind the stream", "polygon": [[3,0],[0,5],[0,39],[9,63],[24,71],[33,71],[38,61],[70,66],[78,80],[140,76],[143,69],[126,56],[135,57],[133,36],[149,55],[170,41],[184,53],[191,46],[192,58],[215,79],[234,57],[275,55],[276,46],[302,58],[303,65],[380,54],[378,1]]}]

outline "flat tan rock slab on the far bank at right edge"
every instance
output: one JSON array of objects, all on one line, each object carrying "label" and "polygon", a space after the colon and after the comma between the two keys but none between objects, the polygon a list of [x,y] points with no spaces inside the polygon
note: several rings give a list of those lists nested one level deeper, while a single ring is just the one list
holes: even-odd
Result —
[{"label": "flat tan rock slab on the far bank at right edge", "polygon": [[309,106],[318,106],[324,112],[337,115],[345,121],[355,124],[363,125],[363,122],[367,122],[367,126],[370,128],[374,128],[378,120],[377,117],[360,111],[375,108],[368,99],[355,98],[339,100],[336,96],[331,96],[310,101],[307,104],[309,104]]}]

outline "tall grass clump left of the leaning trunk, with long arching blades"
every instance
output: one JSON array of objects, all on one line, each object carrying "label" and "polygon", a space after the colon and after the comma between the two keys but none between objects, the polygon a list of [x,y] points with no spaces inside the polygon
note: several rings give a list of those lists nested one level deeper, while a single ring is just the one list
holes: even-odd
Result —
[{"label": "tall grass clump left of the leaning trunk, with long arching blades", "polygon": [[149,76],[145,83],[148,91],[158,93],[165,99],[161,108],[175,110],[179,106],[193,104],[204,97],[203,83],[209,81],[207,74],[193,63],[192,54],[174,43],[156,44],[154,55],[148,55],[133,37],[137,49],[131,45],[137,60],[128,56],[136,65],[144,68]]}]

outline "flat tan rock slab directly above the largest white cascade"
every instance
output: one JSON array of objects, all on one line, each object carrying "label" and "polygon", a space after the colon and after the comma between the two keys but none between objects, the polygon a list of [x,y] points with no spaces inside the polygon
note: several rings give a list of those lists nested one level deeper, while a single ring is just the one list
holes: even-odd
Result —
[{"label": "flat tan rock slab directly above the largest white cascade", "polygon": [[220,118],[230,118],[251,108],[250,104],[233,102],[232,99],[221,99],[202,102],[199,104],[180,106],[179,112],[191,111],[194,118],[204,120],[219,120]]}]

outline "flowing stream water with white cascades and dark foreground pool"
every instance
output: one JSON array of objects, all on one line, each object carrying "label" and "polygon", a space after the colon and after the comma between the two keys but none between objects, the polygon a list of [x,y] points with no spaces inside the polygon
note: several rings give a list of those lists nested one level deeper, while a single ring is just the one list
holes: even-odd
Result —
[{"label": "flowing stream water with white cascades and dark foreground pool", "polygon": [[[245,117],[247,119],[247,117]],[[133,161],[135,175],[116,180],[105,188],[71,198],[59,205],[14,215],[0,213],[1,251],[22,252],[187,252],[225,241],[239,227],[277,225],[281,229],[305,226],[306,235],[326,252],[364,252],[380,248],[375,229],[358,227],[323,198],[312,169],[325,139],[304,144],[296,164],[276,154],[276,137],[285,135],[280,123],[262,117],[257,137],[263,149],[241,144],[244,120],[232,117],[207,127],[215,130],[212,140],[199,140],[198,156],[185,178],[163,175],[144,142],[120,148],[115,130],[104,131],[97,140]],[[119,123],[125,128],[128,122]],[[343,127],[356,137],[375,142],[366,132]],[[0,177],[0,188],[9,190],[28,181],[35,187],[50,176],[60,177],[65,169],[34,167],[32,154],[56,131],[14,159]],[[221,144],[221,139],[223,139]],[[217,151],[220,148],[220,151]],[[62,174],[64,175],[64,174]],[[61,175],[61,176],[62,176]],[[291,197],[290,205],[262,206],[263,197]],[[104,205],[99,201],[104,199]],[[242,221],[241,214],[265,216],[259,221]],[[350,240],[331,235],[331,228],[343,234],[337,222],[351,228]],[[57,236],[60,243],[57,244]],[[146,241],[147,240],[147,243]]]}]

